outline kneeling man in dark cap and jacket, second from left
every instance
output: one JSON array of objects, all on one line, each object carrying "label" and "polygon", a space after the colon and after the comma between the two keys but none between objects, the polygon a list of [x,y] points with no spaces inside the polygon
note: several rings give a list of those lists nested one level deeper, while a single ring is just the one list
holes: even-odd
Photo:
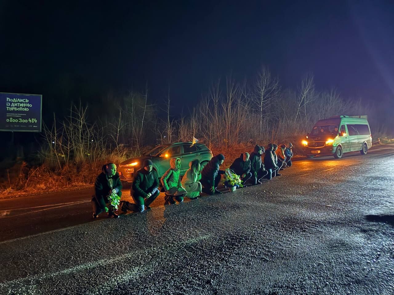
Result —
[{"label": "kneeling man in dark cap and jacket, second from left", "polygon": [[131,204],[130,210],[143,212],[145,209],[149,210],[151,203],[159,195],[159,177],[155,170],[153,170],[153,163],[151,160],[145,160],[143,168],[139,169],[134,176],[134,182],[130,189],[130,194],[135,202]]}]

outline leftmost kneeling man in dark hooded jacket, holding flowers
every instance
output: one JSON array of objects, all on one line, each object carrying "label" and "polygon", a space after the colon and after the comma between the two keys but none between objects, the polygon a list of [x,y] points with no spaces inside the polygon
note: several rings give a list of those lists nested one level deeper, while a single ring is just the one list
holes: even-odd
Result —
[{"label": "leftmost kneeling man in dark hooded jacket, holding flowers", "polygon": [[122,183],[119,173],[116,171],[116,165],[108,163],[102,166],[102,172],[97,176],[95,181],[95,195],[92,198],[93,218],[99,217],[103,211],[108,212],[108,217],[118,218],[119,215],[114,212],[110,204],[109,196],[117,194],[122,195]]}]

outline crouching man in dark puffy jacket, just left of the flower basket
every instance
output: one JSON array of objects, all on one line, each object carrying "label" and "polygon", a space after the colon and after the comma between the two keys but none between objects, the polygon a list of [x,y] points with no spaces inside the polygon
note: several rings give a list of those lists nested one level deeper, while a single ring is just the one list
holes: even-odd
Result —
[{"label": "crouching man in dark puffy jacket, just left of the flower basket", "polygon": [[201,171],[201,184],[203,185],[203,192],[208,195],[221,194],[217,190],[221,175],[225,172],[220,170],[220,165],[224,162],[224,156],[219,154],[213,157]]}]

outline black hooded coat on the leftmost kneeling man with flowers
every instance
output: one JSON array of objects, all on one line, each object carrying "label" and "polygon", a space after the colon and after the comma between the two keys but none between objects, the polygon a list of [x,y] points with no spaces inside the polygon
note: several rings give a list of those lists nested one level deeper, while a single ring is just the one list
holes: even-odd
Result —
[{"label": "black hooded coat on the leftmost kneeling man with flowers", "polygon": [[107,197],[111,190],[115,189],[116,194],[119,195],[119,197],[122,195],[122,182],[119,178],[118,172],[116,172],[112,177],[108,177],[106,165],[102,166],[101,170],[102,172],[97,176],[95,181],[95,195],[93,196],[92,201],[96,200],[100,208],[104,210],[107,206]]}]

